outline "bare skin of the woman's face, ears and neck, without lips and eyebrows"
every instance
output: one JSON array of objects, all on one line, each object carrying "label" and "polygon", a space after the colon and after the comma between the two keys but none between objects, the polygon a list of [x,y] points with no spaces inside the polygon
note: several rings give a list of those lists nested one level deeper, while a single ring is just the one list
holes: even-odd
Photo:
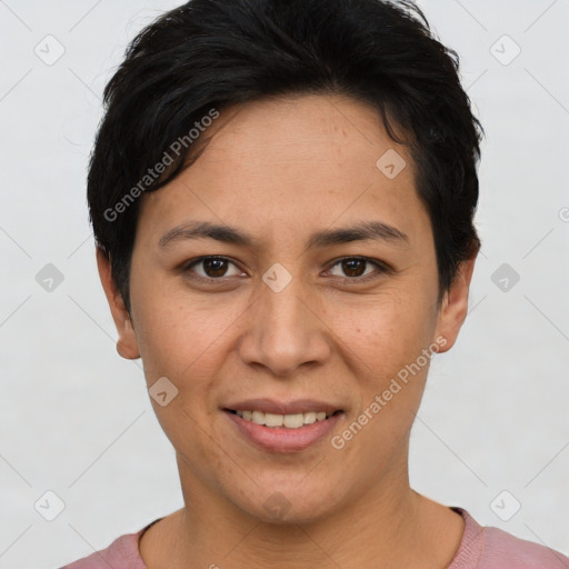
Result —
[{"label": "bare skin of the woman's face, ears and neck, without lips and eyebrows", "polygon": [[[462,519],[415,492],[408,477],[428,365],[340,450],[330,437],[298,452],[261,450],[221,409],[251,397],[325,400],[345,411],[332,435],[341,433],[437,338],[446,341],[439,351],[452,347],[475,257],[438,303],[432,230],[412,159],[373,109],[301,96],[230,111],[210,127],[194,164],[143,197],[130,316],[98,252],[119,353],[142,358],[149,388],[167,377],[178,389],[167,406],[151,402],[176,449],[184,506],[142,536],[141,557],[149,569],[447,567]],[[395,179],[376,167],[389,149],[407,162]],[[159,247],[169,230],[196,220],[257,241]],[[315,231],[361,221],[388,223],[408,240],[307,248]],[[212,254],[230,262],[187,268]],[[353,257],[391,270],[340,262]],[[280,292],[262,280],[276,262],[291,277]],[[376,277],[358,282],[362,273]],[[276,492],[288,505],[281,517],[264,507]]]}]

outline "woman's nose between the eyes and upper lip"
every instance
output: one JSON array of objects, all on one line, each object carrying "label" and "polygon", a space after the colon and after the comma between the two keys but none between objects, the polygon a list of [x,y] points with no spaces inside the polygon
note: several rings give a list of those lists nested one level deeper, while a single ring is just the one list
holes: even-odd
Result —
[{"label": "woman's nose between the eyes and upper lip", "polygon": [[322,302],[299,276],[292,276],[282,290],[260,282],[244,323],[239,352],[248,366],[262,366],[286,378],[330,358],[331,333]]}]

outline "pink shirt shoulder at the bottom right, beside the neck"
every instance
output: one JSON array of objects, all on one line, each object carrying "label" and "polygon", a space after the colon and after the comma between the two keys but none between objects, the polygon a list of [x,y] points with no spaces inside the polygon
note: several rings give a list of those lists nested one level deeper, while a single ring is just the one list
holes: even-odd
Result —
[{"label": "pink shirt shoulder at the bottom right, beside the neck", "polygon": [[463,560],[470,565],[451,565],[449,569],[471,568],[475,553],[475,567],[478,569],[569,569],[569,558],[559,551],[517,538],[498,528],[482,527],[466,510],[455,509],[465,519],[465,537],[460,550],[468,550],[469,559]]}]

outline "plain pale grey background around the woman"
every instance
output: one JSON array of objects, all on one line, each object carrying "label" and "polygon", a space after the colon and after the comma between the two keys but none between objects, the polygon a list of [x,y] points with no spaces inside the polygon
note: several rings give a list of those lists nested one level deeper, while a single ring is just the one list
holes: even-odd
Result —
[{"label": "plain pale grey background around the woman", "polygon": [[[0,0],[0,568],[58,567],[182,503],[141,365],[114,349],[84,197],[102,88],[179,3]],[[411,481],[568,555],[569,0],[420,6],[487,140],[470,315],[432,363]]]}]

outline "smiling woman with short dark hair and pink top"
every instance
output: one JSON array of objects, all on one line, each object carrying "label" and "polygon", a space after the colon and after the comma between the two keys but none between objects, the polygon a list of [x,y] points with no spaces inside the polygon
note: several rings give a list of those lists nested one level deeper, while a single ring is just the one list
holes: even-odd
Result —
[{"label": "smiling woman with short dark hair and pink top", "polygon": [[457,71],[411,2],[192,0],[133,40],[89,207],[184,505],[68,569],[569,563],[409,486],[480,247]]}]

